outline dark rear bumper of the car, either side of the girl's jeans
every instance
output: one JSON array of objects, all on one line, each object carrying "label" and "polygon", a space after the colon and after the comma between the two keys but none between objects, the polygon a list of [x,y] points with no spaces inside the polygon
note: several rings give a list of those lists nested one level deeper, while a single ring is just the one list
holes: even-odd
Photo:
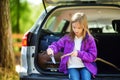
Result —
[{"label": "dark rear bumper of the car, either side of the girl's jeans", "polygon": [[[39,75],[32,74],[29,76],[22,76],[20,80],[69,80],[67,76],[54,76],[54,75]],[[120,74],[98,74],[92,80],[120,80]]]}]

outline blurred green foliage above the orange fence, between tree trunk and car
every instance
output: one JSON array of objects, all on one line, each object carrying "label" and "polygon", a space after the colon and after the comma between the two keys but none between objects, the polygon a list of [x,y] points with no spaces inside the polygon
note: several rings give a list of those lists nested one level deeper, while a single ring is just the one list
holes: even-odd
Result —
[{"label": "blurred green foliage above the orange fence, between tree trunk and car", "polygon": [[10,0],[12,32],[25,33],[38,19],[42,10],[42,3],[35,5],[27,0]]}]

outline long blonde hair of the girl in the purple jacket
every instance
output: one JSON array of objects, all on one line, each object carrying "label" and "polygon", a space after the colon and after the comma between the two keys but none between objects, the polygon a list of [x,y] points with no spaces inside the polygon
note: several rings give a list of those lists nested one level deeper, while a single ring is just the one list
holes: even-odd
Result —
[{"label": "long blonde hair of the girl in the purple jacket", "polygon": [[70,31],[70,37],[72,39],[74,39],[75,37],[75,33],[73,32],[73,29],[72,29],[72,23],[74,22],[77,22],[79,21],[81,25],[83,25],[83,39],[85,38],[86,36],[86,33],[88,33],[88,35],[91,35],[90,34],[90,31],[88,29],[88,23],[87,23],[87,17],[84,13],[75,13],[72,18],[71,18],[71,31]]}]

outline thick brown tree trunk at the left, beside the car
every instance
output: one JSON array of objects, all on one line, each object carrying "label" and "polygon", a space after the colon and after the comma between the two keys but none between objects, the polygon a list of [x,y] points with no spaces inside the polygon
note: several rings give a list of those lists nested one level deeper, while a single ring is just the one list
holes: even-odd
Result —
[{"label": "thick brown tree trunk at the left, beside the car", "polygon": [[0,0],[0,67],[14,68],[9,0]]}]

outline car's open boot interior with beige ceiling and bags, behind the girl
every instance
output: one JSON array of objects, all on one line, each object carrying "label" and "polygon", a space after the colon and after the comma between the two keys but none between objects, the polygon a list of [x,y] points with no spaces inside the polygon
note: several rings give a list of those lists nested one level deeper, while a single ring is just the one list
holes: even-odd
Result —
[{"label": "car's open boot interior with beige ceiling and bags, behind the girl", "polygon": [[46,49],[52,42],[58,41],[70,32],[70,18],[76,12],[86,14],[89,30],[95,38],[98,50],[98,59],[96,59],[98,73],[119,74],[120,8],[109,6],[61,8],[49,15],[39,36],[37,54],[39,71],[45,74],[62,75],[58,67],[63,49],[54,56],[56,64],[52,63],[50,56],[46,54]]}]

